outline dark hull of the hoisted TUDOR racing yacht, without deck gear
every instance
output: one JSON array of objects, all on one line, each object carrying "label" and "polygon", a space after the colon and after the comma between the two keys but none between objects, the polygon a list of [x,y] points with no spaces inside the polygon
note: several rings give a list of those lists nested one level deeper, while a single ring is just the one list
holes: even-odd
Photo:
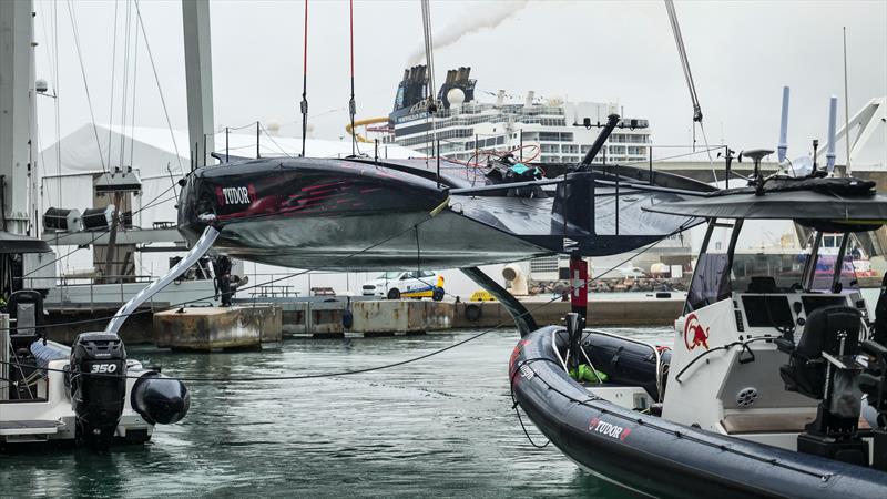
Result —
[{"label": "dark hull of the hoisted TUDOR racing yacht, without deck gear", "polygon": [[[585,245],[584,254],[614,254],[656,241],[683,221],[642,213],[630,200],[623,208],[639,223],[623,225],[642,225],[648,234],[575,236],[553,216],[552,197],[450,195],[470,183],[452,173],[438,183],[424,165],[274,159],[198,169],[182,190],[179,227],[193,243],[212,224],[221,230],[215,249],[247,261],[368,271],[513,262],[562,253],[570,238]],[[612,201],[593,202],[612,211]]]}]

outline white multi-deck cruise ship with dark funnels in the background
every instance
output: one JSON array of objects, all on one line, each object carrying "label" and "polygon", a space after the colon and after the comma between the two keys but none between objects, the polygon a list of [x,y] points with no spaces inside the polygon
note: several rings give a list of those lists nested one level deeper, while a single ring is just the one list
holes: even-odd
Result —
[{"label": "white multi-deck cruise ship with dark funnels in the background", "polygon": [[[568,102],[541,99],[533,91],[514,102],[504,90],[493,102],[476,98],[471,68],[447,71],[437,93],[437,110],[428,112],[428,74],[425,65],[404,71],[385,142],[426,155],[477,163],[492,151],[513,151],[518,159],[540,163],[578,163],[591,149],[599,128],[611,113],[622,115],[616,103]],[[491,94],[493,95],[493,94]],[[602,150],[600,161],[641,163],[650,160],[646,120],[623,119]],[[435,141],[440,150],[435,154]]]}]

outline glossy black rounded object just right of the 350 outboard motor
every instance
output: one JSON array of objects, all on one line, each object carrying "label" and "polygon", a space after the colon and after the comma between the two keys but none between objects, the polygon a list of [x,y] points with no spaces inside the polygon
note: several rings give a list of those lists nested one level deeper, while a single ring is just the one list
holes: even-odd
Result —
[{"label": "glossy black rounded object just right of the 350 outboard motor", "polygon": [[172,425],[187,414],[191,394],[182,381],[151,370],[133,385],[130,405],[151,425]]}]

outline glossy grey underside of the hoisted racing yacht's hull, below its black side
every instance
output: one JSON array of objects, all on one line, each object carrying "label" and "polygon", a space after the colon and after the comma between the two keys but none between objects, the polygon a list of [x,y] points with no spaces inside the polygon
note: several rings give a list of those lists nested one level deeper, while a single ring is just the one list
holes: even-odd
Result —
[{"label": "glossy grey underside of the hoisted racing yacht's hull, below its black side", "polygon": [[453,268],[551,252],[445,211],[267,218],[224,225],[215,248],[234,257],[326,271]]}]

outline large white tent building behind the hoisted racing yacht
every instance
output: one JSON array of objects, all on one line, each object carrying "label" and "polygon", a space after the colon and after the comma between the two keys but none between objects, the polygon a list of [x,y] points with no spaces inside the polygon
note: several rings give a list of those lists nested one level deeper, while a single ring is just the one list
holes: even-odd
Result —
[{"label": "large white tent building behind the hoisted racing yacht", "polygon": [[[241,129],[238,133],[217,133],[216,152],[231,156],[255,157],[256,133],[252,129]],[[96,140],[98,136],[98,140]],[[40,213],[49,207],[77,208],[81,213],[92,207],[93,179],[96,174],[115,167],[130,167],[137,171],[142,179],[142,194],[133,201],[133,224],[142,228],[151,228],[154,222],[174,222],[176,220],[175,200],[179,192],[176,182],[191,170],[191,147],[187,145],[186,131],[136,126],[121,130],[119,126],[105,126],[91,123],[63,138],[60,142],[44,149],[41,153],[39,173]],[[110,145],[110,151],[109,151]],[[203,149],[203,144],[197,144]],[[374,144],[358,144],[360,151],[373,155]],[[345,157],[351,154],[351,142],[324,141],[309,139],[305,144],[306,155],[312,157]],[[259,133],[258,152],[266,156],[296,156],[302,152],[302,140],[295,138],[273,136]],[[392,144],[379,144],[379,157],[406,159],[419,156],[415,151]],[[212,157],[207,157],[207,162]],[[203,163],[203,159],[200,160]],[[147,206],[147,207],[145,207]],[[59,262],[59,275],[71,275],[77,271],[90,269],[93,266],[90,249],[74,251],[73,246],[59,246],[57,252],[70,256]],[[181,255],[181,253],[177,253]],[[162,275],[169,268],[169,258],[175,253],[141,253],[136,255],[136,274]],[[499,268],[499,267],[497,267]],[[254,283],[262,283],[293,274],[292,268],[246,263],[244,272]],[[498,278],[498,272],[492,271]],[[460,273],[447,273],[448,283],[460,283],[466,287],[460,293],[473,291],[477,286],[463,278]],[[360,291],[364,282],[375,277],[375,273],[303,275],[275,284],[287,284],[305,296],[309,287],[329,286],[337,292]]]}]

